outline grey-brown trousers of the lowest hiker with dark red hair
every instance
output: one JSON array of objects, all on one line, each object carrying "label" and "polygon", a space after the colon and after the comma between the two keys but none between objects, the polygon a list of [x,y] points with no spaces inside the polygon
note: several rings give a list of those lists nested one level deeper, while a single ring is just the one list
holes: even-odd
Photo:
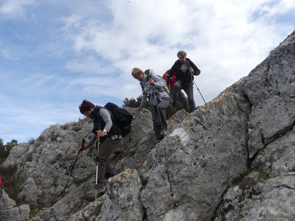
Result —
[{"label": "grey-brown trousers of the lowest hiker with dark red hair", "polygon": [[112,140],[109,138],[105,140],[102,144],[99,145],[99,158],[98,158],[98,177],[97,177],[97,186],[103,187],[104,186],[104,174],[107,177],[113,177],[114,171],[111,166],[108,164],[107,159],[108,157],[114,153],[114,151],[119,147],[121,144],[121,138],[117,138]]}]

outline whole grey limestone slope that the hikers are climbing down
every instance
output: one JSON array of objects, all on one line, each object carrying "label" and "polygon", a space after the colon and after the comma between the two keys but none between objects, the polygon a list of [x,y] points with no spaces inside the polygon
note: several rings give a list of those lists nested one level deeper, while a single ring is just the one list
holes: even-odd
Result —
[{"label": "whole grey limestone slope that the hikers are climbing down", "polygon": [[96,147],[78,154],[93,123],[50,126],[3,163],[16,164],[22,179],[20,202],[5,192],[0,199],[0,220],[295,220],[294,60],[295,32],[217,98],[178,111],[160,143],[150,111],[126,108],[132,139],[110,156],[117,175],[95,201],[84,196],[95,182]]}]

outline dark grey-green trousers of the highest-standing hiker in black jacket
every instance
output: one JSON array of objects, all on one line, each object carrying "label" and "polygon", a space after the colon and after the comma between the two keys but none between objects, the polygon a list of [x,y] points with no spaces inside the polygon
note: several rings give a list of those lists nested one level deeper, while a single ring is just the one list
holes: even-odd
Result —
[{"label": "dark grey-green trousers of the highest-standing hiker in black jacket", "polygon": [[172,104],[176,105],[178,102],[178,92],[179,90],[184,90],[184,92],[187,95],[187,100],[189,103],[189,113],[193,112],[195,109],[195,104],[194,104],[194,94],[193,94],[193,88],[192,84],[183,84],[181,80],[178,80],[175,82],[173,85],[173,98],[172,98]]}]

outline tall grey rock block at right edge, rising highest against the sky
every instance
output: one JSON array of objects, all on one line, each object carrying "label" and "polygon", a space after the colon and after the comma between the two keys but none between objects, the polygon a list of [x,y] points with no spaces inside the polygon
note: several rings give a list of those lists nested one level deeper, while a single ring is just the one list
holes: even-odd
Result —
[{"label": "tall grey rock block at right edge, rising highest against the sky", "polygon": [[[253,105],[249,116],[249,157],[292,129],[295,121],[294,32],[245,78],[243,89]],[[259,136],[260,134],[260,136]]]}]

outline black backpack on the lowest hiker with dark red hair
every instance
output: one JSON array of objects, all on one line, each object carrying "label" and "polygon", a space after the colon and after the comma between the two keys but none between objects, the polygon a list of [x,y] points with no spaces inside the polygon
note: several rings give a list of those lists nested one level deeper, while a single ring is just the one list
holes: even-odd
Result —
[{"label": "black backpack on the lowest hiker with dark red hair", "polygon": [[[111,111],[114,115],[114,122],[121,130],[122,130],[122,137],[127,136],[128,133],[131,131],[131,122],[134,119],[133,116],[125,109],[119,108],[114,103],[107,103],[104,105],[104,108]],[[131,133],[129,143],[131,141]]]}]

